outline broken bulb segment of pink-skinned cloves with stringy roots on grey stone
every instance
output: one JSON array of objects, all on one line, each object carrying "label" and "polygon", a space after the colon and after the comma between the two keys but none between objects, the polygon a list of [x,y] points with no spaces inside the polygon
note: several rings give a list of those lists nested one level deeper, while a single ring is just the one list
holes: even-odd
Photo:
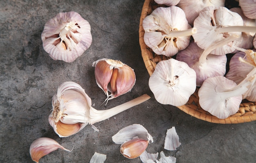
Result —
[{"label": "broken bulb segment of pink-skinned cloves with stringy roots on grey stone", "polygon": [[96,83],[107,95],[107,102],[129,92],[135,85],[134,70],[121,61],[103,58],[94,61],[92,66]]}]

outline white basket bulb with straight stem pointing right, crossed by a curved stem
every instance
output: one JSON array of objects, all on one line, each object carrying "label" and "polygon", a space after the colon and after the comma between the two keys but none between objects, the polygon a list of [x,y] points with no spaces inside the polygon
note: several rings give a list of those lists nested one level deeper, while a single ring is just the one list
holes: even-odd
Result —
[{"label": "white basket bulb with straight stem pointing right, crossed by a curved stem", "polygon": [[211,54],[224,55],[236,50],[234,45],[240,45],[241,32],[247,32],[248,28],[252,31],[251,27],[243,25],[243,19],[238,13],[229,11],[225,7],[206,7],[194,21],[197,33],[192,36],[200,48],[206,49],[214,42],[235,35],[237,39],[211,51]]}]

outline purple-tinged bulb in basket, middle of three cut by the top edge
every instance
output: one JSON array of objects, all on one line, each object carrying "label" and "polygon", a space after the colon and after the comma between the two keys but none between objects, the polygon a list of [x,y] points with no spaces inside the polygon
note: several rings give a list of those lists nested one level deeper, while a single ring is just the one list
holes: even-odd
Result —
[{"label": "purple-tinged bulb in basket, middle of three cut by the top edge", "polygon": [[193,26],[195,18],[198,17],[204,7],[223,7],[225,0],[180,0],[177,6],[185,12],[186,19]]}]

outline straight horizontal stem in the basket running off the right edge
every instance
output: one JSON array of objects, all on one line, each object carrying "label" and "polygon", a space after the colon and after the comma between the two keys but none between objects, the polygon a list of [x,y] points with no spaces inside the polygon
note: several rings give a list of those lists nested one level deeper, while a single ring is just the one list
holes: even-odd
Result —
[{"label": "straight horizontal stem in the basket running off the right edge", "polygon": [[226,33],[226,32],[252,32],[256,33],[255,26],[224,26],[220,28],[216,28],[216,31],[219,33]]}]

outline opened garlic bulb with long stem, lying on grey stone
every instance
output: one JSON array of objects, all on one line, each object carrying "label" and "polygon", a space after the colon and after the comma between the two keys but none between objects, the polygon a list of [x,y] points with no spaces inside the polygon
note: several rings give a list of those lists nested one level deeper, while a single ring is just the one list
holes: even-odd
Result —
[{"label": "opened garlic bulb with long stem, lying on grey stone", "polygon": [[49,124],[59,137],[68,137],[82,130],[87,124],[106,120],[150,97],[146,94],[108,110],[92,108],[92,100],[77,83],[64,82],[52,98]]}]

